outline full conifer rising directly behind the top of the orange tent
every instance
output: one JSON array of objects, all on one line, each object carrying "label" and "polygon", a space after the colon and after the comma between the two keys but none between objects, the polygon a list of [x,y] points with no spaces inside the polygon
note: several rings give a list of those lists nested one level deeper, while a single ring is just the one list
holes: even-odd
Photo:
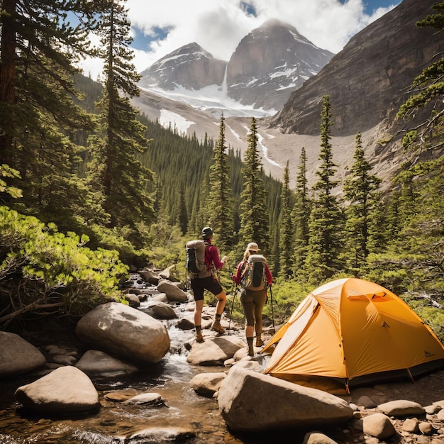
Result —
[{"label": "full conifer rising directly behind the top of the orange tent", "polygon": [[359,275],[369,254],[369,226],[375,194],[379,183],[376,176],[370,174],[372,167],[365,159],[361,133],[356,135],[355,162],[350,168],[350,176],[345,180],[343,192],[348,206],[345,209],[346,245],[344,261],[348,269]]}]

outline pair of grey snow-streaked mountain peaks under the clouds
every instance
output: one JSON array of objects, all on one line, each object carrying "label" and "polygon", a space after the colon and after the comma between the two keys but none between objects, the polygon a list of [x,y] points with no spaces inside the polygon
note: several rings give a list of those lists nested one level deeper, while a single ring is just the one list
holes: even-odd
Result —
[{"label": "pair of grey snow-streaked mountain peaks under the clouds", "polygon": [[188,43],[143,70],[138,85],[157,94],[214,85],[241,106],[273,114],[294,87],[321,70],[331,57],[332,52],[321,50],[293,26],[272,19],[245,35],[228,62],[214,58],[197,43]]}]

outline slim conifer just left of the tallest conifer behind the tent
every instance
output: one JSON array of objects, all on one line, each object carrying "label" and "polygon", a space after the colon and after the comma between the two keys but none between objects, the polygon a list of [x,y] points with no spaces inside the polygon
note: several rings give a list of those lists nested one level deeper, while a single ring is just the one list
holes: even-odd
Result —
[{"label": "slim conifer just left of the tallest conifer behind the tent", "polygon": [[293,207],[294,220],[294,274],[304,266],[307,247],[309,245],[309,218],[311,201],[309,199],[308,181],[306,178],[306,151],[301,149],[298,174],[296,175],[296,202]]}]

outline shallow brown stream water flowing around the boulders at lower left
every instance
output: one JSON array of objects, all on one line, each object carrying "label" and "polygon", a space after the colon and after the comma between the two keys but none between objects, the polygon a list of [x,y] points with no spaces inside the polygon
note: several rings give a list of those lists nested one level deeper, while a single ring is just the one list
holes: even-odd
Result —
[{"label": "shallow brown stream water flowing around the boulders at lower left", "polygon": [[[143,309],[143,304],[140,307]],[[184,306],[174,307],[177,315],[184,316]],[[165,321],[172,348],[160,363],[131,377],[119,379],[92,379],[99,392],[101,408],[96,414],[74,418],[42,417],[23,409],[14,399],[14,392],[23,384],[38,379],[26,375],[19,379],[0,380],[0,444],[28,443],[166,443],[170,440],[128,440],[133,433],[159,426],[183,426],[194,432],[184,442],[190,444],[216,443],[270,443],[267,435],[235,436],[226,427],[218,411],[216,399],[200,396],[190,387],[194,375],[201,372],[221,372],[223,367],[189,365],[184,344],[193,338],[193,331],[182,331],[172,321]],[[155,392],[162,396],[163,404],[123,404],[110,401],[107,394],[129,392],[133,395]],[[276,435],[274,435],[276,438]],[[297,440],[281,437],[280,442]],[[273,439],[272,439],[273,440]]]}]

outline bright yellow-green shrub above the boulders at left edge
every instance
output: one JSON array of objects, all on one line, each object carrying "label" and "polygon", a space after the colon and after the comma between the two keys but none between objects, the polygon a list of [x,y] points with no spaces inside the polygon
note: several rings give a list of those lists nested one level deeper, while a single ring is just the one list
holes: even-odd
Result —
[{"label": "bright yellow-green shrub above the boulders at left edge", "polygon": [[118,252],[85,245],[87,236],[57,232],[33,216],[0,206],[0,326],[22,313],[82,313],[107,299],[120,300],[128,267]]}]

